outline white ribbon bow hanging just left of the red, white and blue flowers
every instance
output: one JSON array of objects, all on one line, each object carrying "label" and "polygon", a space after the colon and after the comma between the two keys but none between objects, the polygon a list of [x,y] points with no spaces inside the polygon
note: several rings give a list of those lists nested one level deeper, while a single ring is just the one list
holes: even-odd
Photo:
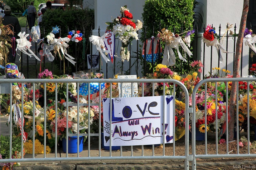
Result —
[{"label": "white ribbon bow hanging just left of the red, white and blue flowers", "polygon": [[[68,42],[70,41],[69,38],[65,37],[65,38],[54,38],[53,41],[51,41],[51,44],[54,46],[54,49],[56,51],[61,50],[63,57],[65,57],[69,62],[71,62],[73,65],[75,65],[76,61],[73,61],[75,58],[72,57],[71,55],[67,54],[67,49],[68,48]],[[67,43],[66,43],[67,42]],[[59,56],[61,56],[61,54],[59,53]]]}]

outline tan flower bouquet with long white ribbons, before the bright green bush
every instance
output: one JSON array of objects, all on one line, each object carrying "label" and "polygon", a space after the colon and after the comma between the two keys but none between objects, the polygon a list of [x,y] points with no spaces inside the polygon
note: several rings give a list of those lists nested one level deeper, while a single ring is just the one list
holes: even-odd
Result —
[{"label": "tan flower bouquet with long white ribbons, before the bright green bush", "polygon": [[[190,35],[194,33],[193,31],[189,31],[189,33],[186,35],[185,39],[186,43],[190,46]],[[168,65],[168,66],[173,66],[175,65],[175,55],[172,50],[172,48],[175,48],[178,52],[179,59],[183,61],[186,60],[186,53],[189,55],[193,55],[191,51],[188,49],[188,47],[185,45],[185,43],[182,40],[182,37],[179,36],[178,34],[173,34],[172,31],[167,30],[163,28],[161,32],[158,31],[158,37],[162,41],[165,41],[165,47],[164,47],[164,54],[163,54],[163,61],[162,64]],[[185,56],[183,57],[182,54],[179,52],[179,46],[183,48],[183,50],[186,52]]]}]

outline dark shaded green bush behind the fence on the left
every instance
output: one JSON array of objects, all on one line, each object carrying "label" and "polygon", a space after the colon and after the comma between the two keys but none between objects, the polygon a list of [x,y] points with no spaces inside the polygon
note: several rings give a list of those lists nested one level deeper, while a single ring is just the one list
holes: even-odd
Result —
[{"label": "dark shaded green bush behind the fence on the left", "polygon": [[[91,29],[94,29],[94,10],[92,9],[68,9],[68,10],[47,10],[42,18],[42,25],[41,25],[41,34],[44,36],[48,35],[52,31],[52,27],[59,26],[61,28],[61,37],[66,37],[68,35],[68,31],[71,30],[79,30],[82,34],[84,34],[84,38],[87,39],[90,36]],[[44,28],[44,29],[43,29]],[[45,30],[45,32],[43,31]],[[44,33],[43,33],[44,32]],[[55,35],[58,38],[59,35]],[[75,58],[75,53],[77,52],[77,70],[82,69],[83,61],[87,62],[82,59],[82,51],[83,51],[83,42],[77,43],[77,47],[75,50],[76,43],[70,41],[68,43],[68,54]],[[90,54],[90,43],[86,42],[87,49],[86,54]],[[60,66],[59,57],[56,56],[57,60],[54,60],[58,66]],[[65,61],[66,69],[67,69],[67,61]],[[69,63],[71,66],[72,71],[75,71],[75,67]],[[63,66],[63,64],[62,64]],[[61,67],[62,67],[61,66]],[[87,66],[86,66],[87,67]],[[81,68],[81,69],[79,69]],[[63,68],[62,68],[63,69]]]}]

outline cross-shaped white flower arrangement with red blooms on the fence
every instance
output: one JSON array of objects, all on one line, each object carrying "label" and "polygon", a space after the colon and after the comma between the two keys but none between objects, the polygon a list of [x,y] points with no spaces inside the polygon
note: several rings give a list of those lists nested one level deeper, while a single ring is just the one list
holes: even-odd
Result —
[{"label": "cross-shaped white flower arrangement with red blooms on the fence", "polygon": [[122,47],[120,51],[122,61],[129,61],[130,51],[128,45],[132,40],[139,40],[136,31],[142,28],[143,23],[140,20],[133,20],[132,14],[129,12],[127,6],[121,7],[121,17],[118,16],[113,22],[106,22],[107,30],[111,30],[112,34],[119,35],[119,40],[122,41]]}]

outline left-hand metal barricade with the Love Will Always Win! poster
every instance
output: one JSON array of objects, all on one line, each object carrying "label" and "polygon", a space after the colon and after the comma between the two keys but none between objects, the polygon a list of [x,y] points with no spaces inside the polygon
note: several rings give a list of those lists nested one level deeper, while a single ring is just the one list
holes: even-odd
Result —
[{"label": "left-hand metal barricade with the Love Will Always Win! poster", "polygon": [[[152,153],[149,154],[148,151],[146,152],[145,148],[144,148],[144,145],[141,145],[141,146],[129,146],[128,149],[123,149],[123,148],[127,148],[126,146],[121,146],[120,147],[120,150],[115,152],[115,153],[112,153],[112,149],[111,149],[111,145],[112,145],[112,142],[111,142],[111,139],[112,139],[112,136],[110,135],[110,151],[109,152],[106,152],[106,151],[102,151],[101,150],[101,133],[93,133],[91,132],[91,127],[90,127],[90,123],[88,123],[88,131],[87,133],[77,133],[77,134],[72,134],[72,133],[69,133],[68,131],[66,131],[66,136],[77,136],[77,139],[79,136],[87,136],[87,143],[85,143],[84,146],[86,146],[86,149],[83,149],[83,152],[85,152],[87,154],[87,156],[82,156],[81,153],[79,153],[79,142],[77,142],[77,154],[69,154],[68,152],[68,149],[66,151],[66,156],[61,156],[58,155],[58,151],[59,151],[59,154],[61,153],[60,149],[58,148],[57,146],[57,137],[55,137],[55,140],[53,141],[54,143],[54,154],[50,155],[50,154],[46,154],[46,137],[47,137],[47,130],[46,130],[46,107],[44,107],[44,109],[42,110],[42,112],[44,113],[44,117],[43,119],[45,120],[44,122],[42,121],[42,124],[43,126],[45,127],[44,130],[43,130],[43,142],[42,144],[44,145],[44,149],[43,149],[43,155],[42,156],[39,156],[39,155],[36,155],[35,154],[35,111],[36,111],[36,105],[35,105],[35,85],[36,84],[40,84],[43,88],[44,88],[44,91],[43,91],[43,95],[44,95],[44,100],[43,100],[43,103],[44,103],[44,106],[47,105],[47,93],[46,93],[46,89],[47,89],[47,83],[52,83],[53,85],[55,84],[55,87],[56,87],[56,90],[54,91],[54,100],[57,101],[57,97],[58,95],[61,95],[59,94],[58,92],[58,89],[57,89],[57,85],[62,83],[63,85],[66,85],[66,87],[68,87],[68,85],[70,83],[76,83],[76,86],[77,86],[77,89],[79,87],[79,84],[81,85],[81,83],[88,83],[88,101],[90,101],[90,83],[93,82],[93,83],[110,83],[110,87],[112,87],[112,84],[113,83],[121,83],[121,86],[123,83],[131,83],[131,85],[133,83],[140,83],[141,84],[141,89],[142,89],[142,96],[144,96],[144,83],[152,83],[153,87],[152,87],[152,94],[154,96],[154,89],[155,89],[155,83],[163,83],[163,99],[165,99],[165,83],[173,83],[173,94],[176,93],[176,90],[177,90],[177,87],[176,86],[179,86],[182,91],[184,92],[184,96],[185,96],[185,110],[184,110],[184,115],[185,115],[185,137],[184,137],[184,143],[185,143],[185,153],[184,155],[175,155],[175,135],[173,135],[173,154],[172,155],[166,155],[165,154],[165,150],[168,149],[165,147],[165,142],[163,142],[163,154],[161,155],[155,155],[154,153],[154,145],[152,145]],[[182,82],[180,81],[177,81],[177,80],[174,80],[174,79],[1,79],[1,82],[0,82],[0,93],[1,94],[10,94],[10,96],[14,96],[16,94],[14,94],[14,92],[12,92],[12,83],[18,83],[20,85],[20,89],[21,89],[21,96],[24,96],[24,85],[26,83],[30,83],[33,85],[32,87],[32,90],[33,90],[33,94],[32,94],[32,113],[33,113],[33,116],[31,116],[31,119],[33,120],[32,121],[32,126],[33,126],[33,129],[32,129],[32,134],[31,134],[31,138],[32,138],[32,143],[33,143],[33,148],[32,148],[32,154],[27,154],[25,156],[23,156],[23,154],[21,154],[21,158],[18,158],[18,159],[0,159],[0,163],[7,163],[7,162],[49,162],[49,161],[86,161],[86,160],[184,160],[184,169],[189,169],[189,116],[188,116],[188,107],[189,107],[189,93],[187,91],[187,88],[182,84]],[[62,92],[62,91],[61,91]],[[131,88],[131,95],[133,94],[133,88]],[[123,91],[121,89],[121,95],[122,95]],[[68,94],[68,88],[66,88],[66,94]],[[112,94],[112,88],[110,88],[110,94]],[[99,101],[102,100],[101,98],[101,95],[102,95],[102,92],[101,90],[99,90]],[[77,96],[79,96],[79,90],[77,91]],[[71,96],[69,95],[66,95],[66,101],[69,101],[69,98]],[[175,101],[175,95],[173,96],[174,100]],[[78,97],[79,98],[79,97]],[[101,111],[101,102],[99,103],[79,103],[79,99],[77,98],[77,103],[73,103],[73,104],[70,104],[70,103],[66,103],[66,106],[68,108],[68,106],[77,106],[77,108],[79,108],[79,106],[88,106],[88,122],[90,122],[90,120],[92,119],[92,117],[90,117],[90,111],[91,111],[91,106],[98,106],[99,108],[99,125],[98,125],[98,130],[99,132],[101,132],[101,114],[102,111]],[[111,109],[111,106],[112,106],[112,96],[110,95],[110,109]],[[165,100],[163,100],[165,101]],[[13,103],[13,99],[12,97],[10,97],[10,107],[12,107],[12,103]],[[174,102],[175,103],[175,102]],[[21,115],[21,122],[24,122],[24,104],[23,102],[20,103],[20,108],[21,108],[21,112],[20,112],[20,115]],[[58,103],[55,102],[54,104],[55,106],[55,132],[54,136],[58,136],[57,134],[57,113],[58,113]],[[165,108],[165,104],[163,104],[162,106],[163,108],[163,112],[164,112],[164,116],[166,116],[166,114],[168,114],[166,111],[164,111],[164,108]],[[10,131],[10,157],[12,156],[11,155],[11,150],[12,150],[12,132],[13,132],[13,129],[12,129],[12,117],[13,117],[13,112],[12,109],[10,109],[10,113],[9,113],[9,116],[10,116],[10,125],[9,125],[9,131]],[[79,122],[79,110],[77,109],[77,122]],[[174,108],[173,108],[173,112],[175,113],[175,104],[174,104]],[[66,120],[68,120],[69,117],[68,117],[68,112],[66,114]],[[110,114],[110,125],[112,123],[112,116]],[[21,124],[21,134],[23,134],[24,132],[24,124],[20,123]],[[173,115],[173,122],[170,122],[171,126],[173,126],[173,129],[175,129],[175,114]],[[66,121],[66,127],[68,126],[68,121]],[[163,118],[163,123],[160,125],[160,127],[163,127],[164,128],[165,126],[165,121],[164,121],[164,118]],[[79,128],[79,124],[77,125],[77,129]],[[111,131],[111,126],[110,126],[110,131]],[[164,133],[163,133],[164,134]],[[0,135],[1,135],[1,131],[0,131]],[[163,135],[165,136],[165,134]],[[97,138],[98,137],[98,138]],[[165,140],[165,137],[163,137],[163,141]],[[93,139],[93,140],[92,140]],[[95,143],[94,141],[98,141],[98,147],[96,146],[93,146],[92,144]],[[1,142],[1,141],[0,141]],[[21,137],[21,153],[22,151],[24,150],[24,143],[23,143],[23,138]],[[66,148],[68,148],[68,140],[66,142]],[[96,144],[97,145],[97,144]],[[36,146],[37,147],[37,146]],[[64,146],[63,146],[64,147]],[[134,152],[134,149],[141,149],[141,153],[138,153],[138,152]],[[92,152],[94,150],[94,152]],[[127,150],[130,150],[129,153],[130,153],[130,156],[129,156],[129,153],[127,153]],[[96,153],[96,154],[95,154]],[[120,154],[120,155],[119,155]],[[36,156],[35,156],[36,155]],[[191,158],[191,156],[190,156]],[[190,159],[191,160],[191,159]]]}]

